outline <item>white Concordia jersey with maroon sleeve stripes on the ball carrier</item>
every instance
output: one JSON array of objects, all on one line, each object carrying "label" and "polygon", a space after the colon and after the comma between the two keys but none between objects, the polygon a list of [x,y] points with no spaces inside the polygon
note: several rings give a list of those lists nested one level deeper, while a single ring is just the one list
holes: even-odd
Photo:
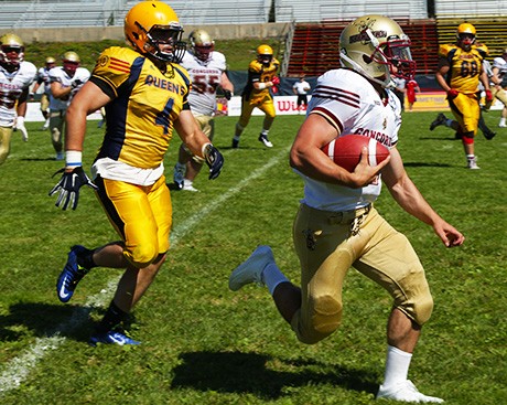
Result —
[{"label": "white Concordia jersey with maroon sleeve stripes on the ball carrier", "polygon": [[[306,114],[320,114],[341,136],[374,138],[387,148],[398,141],[401,105],[386,90],[384,99],[362,75],[346,68],[328,71],[317,79]],[[298,172],[298,171],[296,171]],[[325,183],[298,172],[304,180],[303,202],[319,210],[348,211],[373,203],[380,194],[380,177],[362,189]]]}]

